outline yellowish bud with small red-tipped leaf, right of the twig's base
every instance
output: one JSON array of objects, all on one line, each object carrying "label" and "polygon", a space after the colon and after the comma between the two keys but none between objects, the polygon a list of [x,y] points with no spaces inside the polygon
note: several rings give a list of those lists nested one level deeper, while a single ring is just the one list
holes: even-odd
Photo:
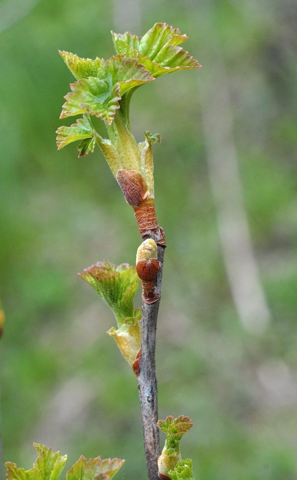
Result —
[{"label": "yellowish bud with small red-tipped leaf, right of the twig's base", "polygon": [[166,433],[165,445],[158,458],[159,475],[160,478],[171,478],[169,472],[174,471],[175,467],[182,461],[180,440],[193,427],[193,424],[189,417],[184,415],[180,415],[176,419],[170,415],[165,420],[159,420],[157,427]]}]

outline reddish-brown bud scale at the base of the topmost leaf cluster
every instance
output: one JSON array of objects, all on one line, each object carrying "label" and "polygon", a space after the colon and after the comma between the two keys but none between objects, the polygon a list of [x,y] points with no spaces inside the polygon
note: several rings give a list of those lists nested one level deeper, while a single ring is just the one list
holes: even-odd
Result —
[{"label": "reddish-brown bud scale at the base of the topmost leaf cluster", "polygon": [[121,187],[126,202],[132,207],[138,207],[149,197],[148,186],[136,170],[118,170],[116,179]]}]

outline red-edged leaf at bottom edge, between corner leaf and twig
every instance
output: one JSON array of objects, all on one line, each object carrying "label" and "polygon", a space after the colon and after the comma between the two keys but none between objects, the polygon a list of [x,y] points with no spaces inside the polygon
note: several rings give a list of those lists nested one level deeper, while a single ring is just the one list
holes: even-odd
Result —
[{"label": "red-edged leaf at bottom edge, between corner leaf and twig", "polygon": [[121,468],[125,460],[101,457],[87,460],[83,455],[67,472],[66,480],[109,480]]}]

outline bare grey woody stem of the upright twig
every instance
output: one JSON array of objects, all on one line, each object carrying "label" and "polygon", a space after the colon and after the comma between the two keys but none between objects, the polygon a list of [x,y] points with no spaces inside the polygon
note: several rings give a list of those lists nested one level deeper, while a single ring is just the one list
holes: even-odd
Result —
[{"label": "bare grey woody stem of the upright twig", "polygon": [[[158,246],[158,261],[161,269],[157,275],[156,288],[161,294],[164,247]],[[153,304],[143,302],[142,315],[142,357],[138,377],[142,425],[147,458],[148,480],[158,480],[157,460],[160,455],[158,420],[157,378],[155,369],[155,347],[157,316],[160,300]]]}]

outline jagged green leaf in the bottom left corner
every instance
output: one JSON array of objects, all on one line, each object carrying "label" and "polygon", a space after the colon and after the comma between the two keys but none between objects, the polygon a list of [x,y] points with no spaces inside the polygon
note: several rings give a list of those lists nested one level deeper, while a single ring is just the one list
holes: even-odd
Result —
[{"label": "jagged green leaf in the bottom left corner", "polygon": [[6,462],[6,480],[58,480],[64,468],[67,455],[53,453],[46,445],[34,443],[39,454],[33,468],[24,470],[17,468],[15,463]]}]

